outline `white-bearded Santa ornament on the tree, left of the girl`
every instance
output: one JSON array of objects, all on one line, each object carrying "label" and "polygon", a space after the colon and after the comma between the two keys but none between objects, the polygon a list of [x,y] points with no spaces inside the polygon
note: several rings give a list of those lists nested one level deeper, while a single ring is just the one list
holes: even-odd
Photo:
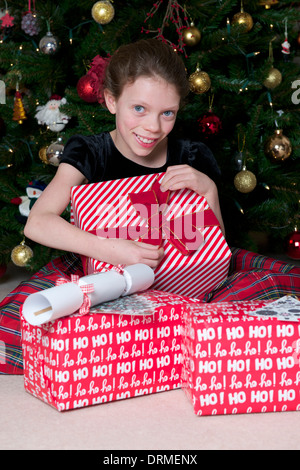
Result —
[{"label": "white-bearded Santa ornament on the tree, left of the girl", "polygon": [[38,124],[45,124],[53,132],[60,132],[68,124],[70,117],[62,113],[60,105],[66,104],[66,98],[59,95],[52,95],[50,100],[43,106],[38,106],[35,118]]}]

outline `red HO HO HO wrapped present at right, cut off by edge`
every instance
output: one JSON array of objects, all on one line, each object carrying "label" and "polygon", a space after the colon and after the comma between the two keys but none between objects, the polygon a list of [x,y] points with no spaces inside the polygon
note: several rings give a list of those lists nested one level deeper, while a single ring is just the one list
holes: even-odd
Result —
[{"label": "red HO HO HO wrapped present at right, cut off by edge", "polygon": [[276,315],[272,305],[220,302],[185,309],[182,387],[198,416],[300,409],[300,323],[295,308],[291,322],[285,321],[286,307]]}]

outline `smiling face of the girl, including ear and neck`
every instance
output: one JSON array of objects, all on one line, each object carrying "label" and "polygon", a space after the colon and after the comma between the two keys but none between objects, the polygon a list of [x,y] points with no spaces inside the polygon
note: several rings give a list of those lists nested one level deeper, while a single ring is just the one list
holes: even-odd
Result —
[{"label": "smiling face of the girl, including ear and neck", "polygon": [[116,115],[112,133],[118,150],[128,159],[158,167],[166,161],[166,137],[173,129],[180,96],[160,77],[142,76],[126,84],[118,99],[105,91],[106,105]]}]

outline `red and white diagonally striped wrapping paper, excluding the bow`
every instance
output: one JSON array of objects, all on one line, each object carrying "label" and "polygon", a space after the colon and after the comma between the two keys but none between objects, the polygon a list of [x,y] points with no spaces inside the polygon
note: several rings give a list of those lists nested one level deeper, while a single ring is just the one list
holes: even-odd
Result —
[{"label": "red and white diagonally striped wrapping paper, excluding the bow", "polygon": [[[124,178],[88,185],[71,190],[71,222],[82,230],[99,233],[99,229],[115,227],[145,227],[131,204],[130,193],[150,191],[155,180],[161,182],[164,173]],[[209,209],[206,199],[193,191],[171,191],[166,220],[193,211]],[[200,228],[204,242],[197,251],[183,255],[169,239],[163,240],[165,256],[155,269],[152,288],[189,297],[209,292],[228,273],[231,251],[219,226]],[[113,233],[113,231],[112,231]],[[93,258],[83,258],[85,274],[103,272],[112,265]]]}]

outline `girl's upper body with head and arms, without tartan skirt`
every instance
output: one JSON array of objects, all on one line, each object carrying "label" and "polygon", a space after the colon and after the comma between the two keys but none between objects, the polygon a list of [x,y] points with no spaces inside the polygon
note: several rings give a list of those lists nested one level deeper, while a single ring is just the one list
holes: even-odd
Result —
[{"label": "girl's upper body with head and arms, without tartan skirt", "polygon": [[121,46],[106,70],[104,98],[116,128],[73,136],[55,177],[28,217],[26,237],[114,265],[144,263],[155,268],[163,249],[130,240],[101,239],[60,217],[72,186],[166,172],[162,190],[188,188],[203,195],[224,230],[210,150],[168,136],[188,93],[186,71],[173,49],[156,39]]}]

